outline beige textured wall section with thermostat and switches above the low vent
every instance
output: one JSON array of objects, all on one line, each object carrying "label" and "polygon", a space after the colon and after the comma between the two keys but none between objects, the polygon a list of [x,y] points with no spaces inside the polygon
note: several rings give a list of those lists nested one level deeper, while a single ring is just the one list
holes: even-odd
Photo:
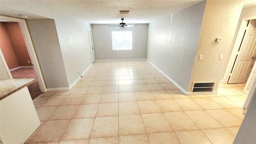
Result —
[{"label": "beige textured wall section with thermostat and switches above the low vent", "polygon": [[[194,81],[216,81],[217,90],[224,66],[228,63],[228,54],[232,50],[231,42],[242,11],[243,1],[207,0],[204,18],[200,30],[189,91]],[[215,42],[216,38],[223,38]],[[203,59],[199,60],[199,56]],[[223,59],[219,60],[220,54]]]}]

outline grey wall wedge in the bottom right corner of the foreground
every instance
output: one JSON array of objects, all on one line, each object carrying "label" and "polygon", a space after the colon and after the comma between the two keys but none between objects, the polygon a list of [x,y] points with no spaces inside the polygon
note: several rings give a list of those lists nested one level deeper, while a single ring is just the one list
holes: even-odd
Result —
[{"label": "grey wall wedge in the bottom right corner of the foreground", "polygon": [[[256,94],[255,94],[256,95]],[[256,96],[252,99],[233,144],[255,144],[256,142]]]}]

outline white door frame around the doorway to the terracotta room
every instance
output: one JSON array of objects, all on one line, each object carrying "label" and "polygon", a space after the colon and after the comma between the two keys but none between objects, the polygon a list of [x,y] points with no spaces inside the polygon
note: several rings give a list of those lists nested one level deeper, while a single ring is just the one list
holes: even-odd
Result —
[{"label": "white door frame around the doorway to the terracotta room", "polygon": [[[47,92],[44,78],[42,75],[42,71],[41,71],[41,68],[38,63],[38,59],[37,59],[36,52],[35,52],[31,37],[30,37],[30,33],[28,30],[26,20],[21,19],[21,18],[12,18],[12,17],[8,17],[8,16],[1,16],[0,19],[5,20],[7,22],[18,22],[18,24],[20,26],[20,30],[22,32],[22,36],[24,38],[24,42],[25,42],[27,50],[28,50],[28,55],[30,56],[30,60],[31,60],[32,64],[34,64],[33,68],[36,73],[36,77],[38,78],[38,85],[40,87],[40,90],[41,90],[41,92]],[[7,66],[7,68],[8,68],[8,66]],[[9,68],[8,68],[8,70],[9,70]],[[10,78],[12,78],[12,76],[10,76]]]}]

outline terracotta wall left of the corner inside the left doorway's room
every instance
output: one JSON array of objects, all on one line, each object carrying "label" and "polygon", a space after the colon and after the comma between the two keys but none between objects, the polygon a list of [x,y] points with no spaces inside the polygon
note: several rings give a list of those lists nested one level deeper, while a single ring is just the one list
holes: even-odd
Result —
[{"label": "terracotta wall left of the corner inside the left doorway's room", "polygon": [[15,52],[12,48],[12,43],[10,42],[10,38],[3,23],[4,22],[0,22],[0,48],[8,65],[8,68],[17,68],[20,66],[20,64],[18,62],[18,59],[16,58]]}]

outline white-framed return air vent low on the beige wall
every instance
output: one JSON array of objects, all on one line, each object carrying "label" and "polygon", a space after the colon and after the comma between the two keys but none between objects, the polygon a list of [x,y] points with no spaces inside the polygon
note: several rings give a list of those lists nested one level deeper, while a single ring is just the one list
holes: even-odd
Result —
[{"label": "white-framed return air vent low on the beige wall", "polygon": [[193,82],[193,93],[213,92],[216,81],[211,82]]}]

